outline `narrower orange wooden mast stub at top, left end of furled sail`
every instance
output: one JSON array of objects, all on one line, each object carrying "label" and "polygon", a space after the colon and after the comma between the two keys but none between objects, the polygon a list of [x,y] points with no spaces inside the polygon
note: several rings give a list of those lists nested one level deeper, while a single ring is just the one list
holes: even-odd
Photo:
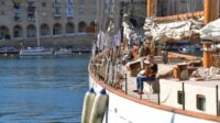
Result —
[{"label": "narrower orange wooden mast stub at top, left end of furled sail", "polygon": [[146,8],[147,18],[156,16],[157,0],[146,0]]}]

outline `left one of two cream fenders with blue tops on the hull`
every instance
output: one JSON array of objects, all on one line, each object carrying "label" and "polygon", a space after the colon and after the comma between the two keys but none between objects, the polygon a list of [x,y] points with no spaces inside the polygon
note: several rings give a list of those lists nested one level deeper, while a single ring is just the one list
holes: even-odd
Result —
[{"label": "left one of two cream fenders with blue tops on the hull", "polygon": [[89,123],[89,119],[91,115],[91,109],[94,105],[94,101],[96,98],[96,93],[94,91],[94,88],[91,88],[84,98],[84,107],[82,107],[82,113],[81,113],[81,123]]}]

